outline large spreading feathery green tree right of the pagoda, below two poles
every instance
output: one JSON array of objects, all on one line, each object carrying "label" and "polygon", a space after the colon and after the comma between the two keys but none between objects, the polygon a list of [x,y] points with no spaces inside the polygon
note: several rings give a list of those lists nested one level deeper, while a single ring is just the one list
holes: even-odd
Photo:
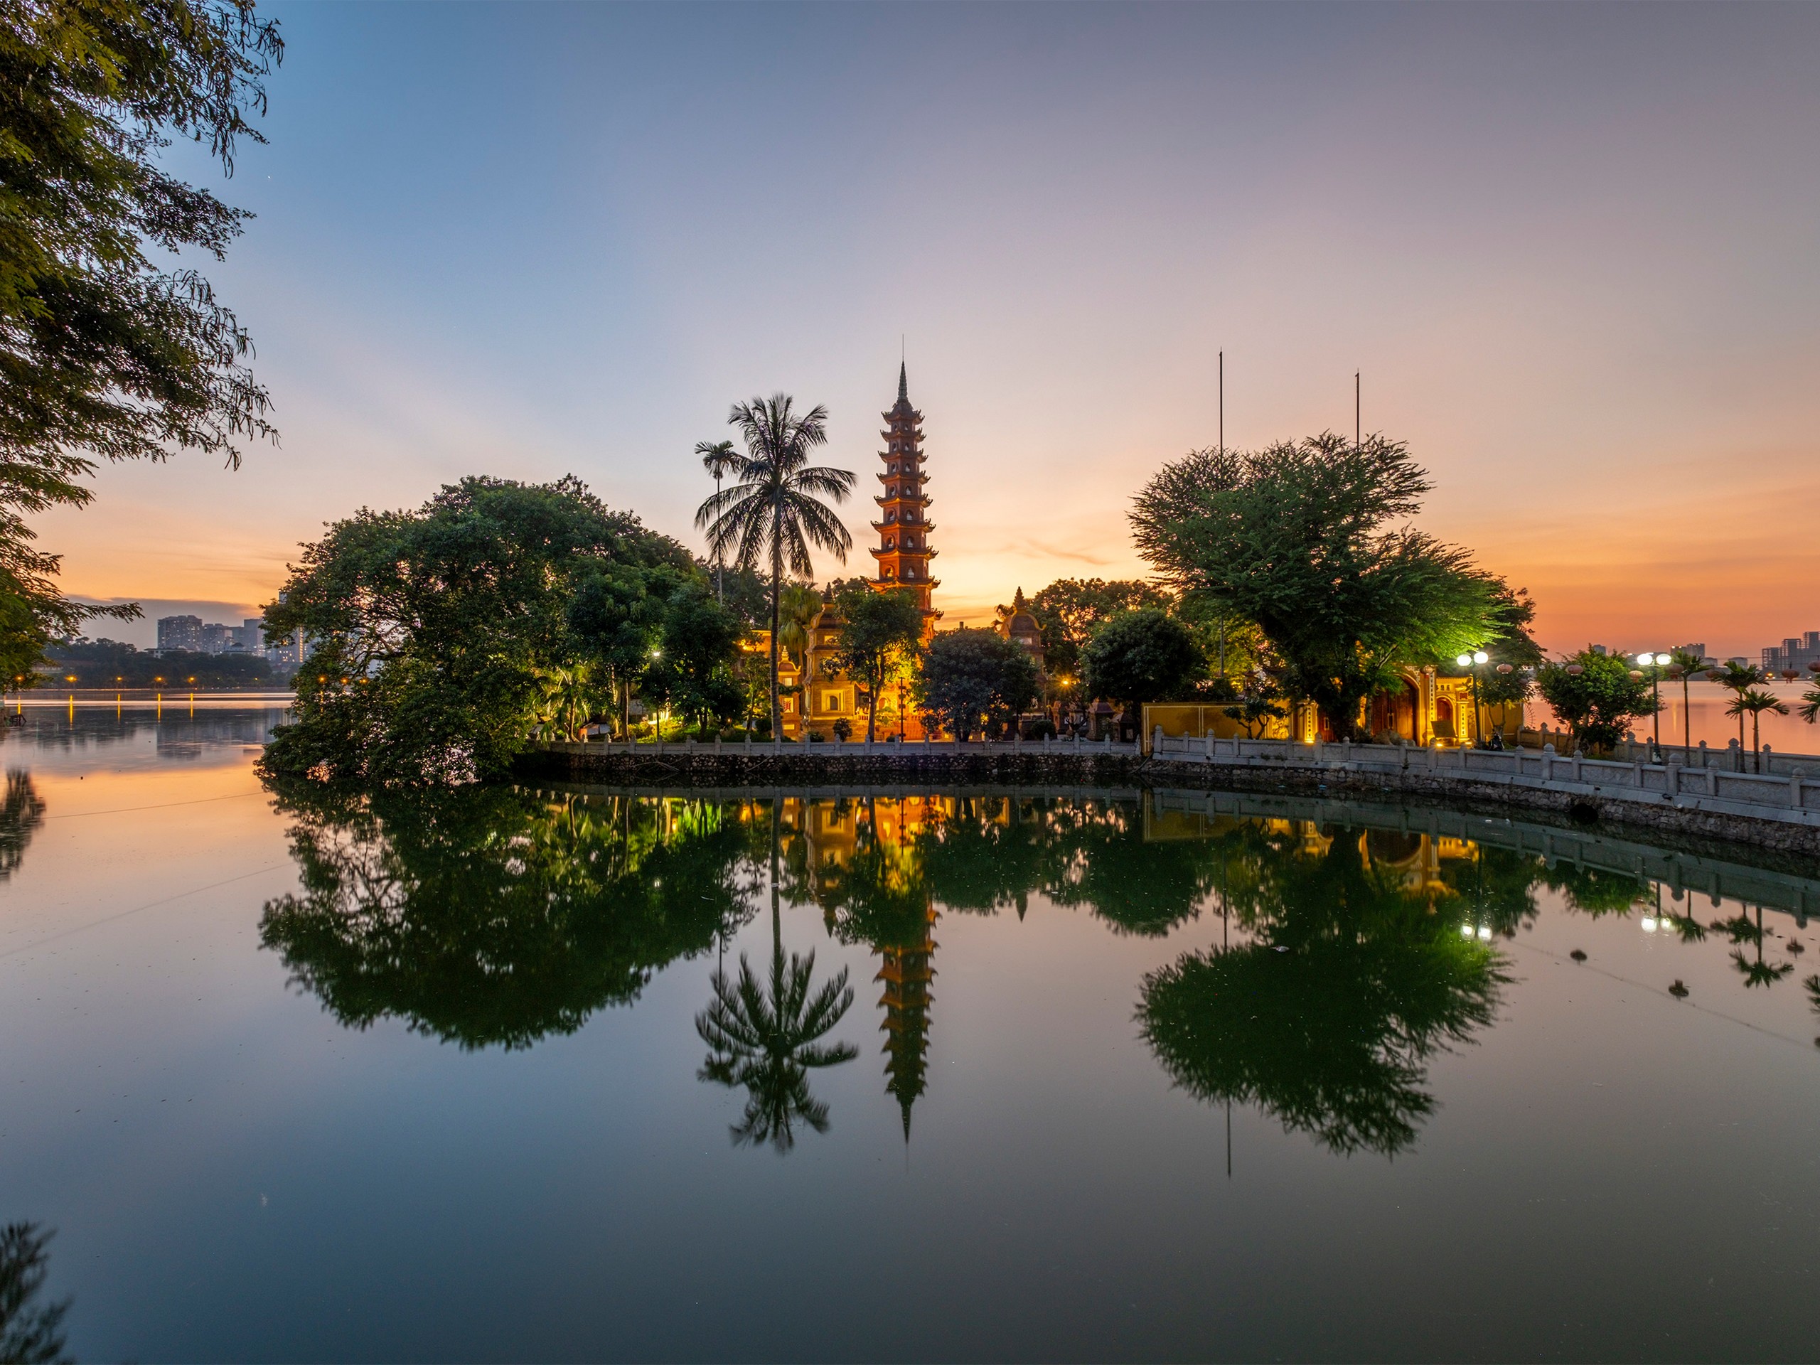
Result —
[{"label": "large spreading feathery green tree right of the pagoda, below two poles", "polygon": [[1474,650],[1500,628],[1505,584],[1401,524],[1429,488],[1401,442],[1323,431],[1165,466],[1132,530],[1179,592],[1256,622],[1290,697],[1352,737],[1361,703],[1400,666]]}]

